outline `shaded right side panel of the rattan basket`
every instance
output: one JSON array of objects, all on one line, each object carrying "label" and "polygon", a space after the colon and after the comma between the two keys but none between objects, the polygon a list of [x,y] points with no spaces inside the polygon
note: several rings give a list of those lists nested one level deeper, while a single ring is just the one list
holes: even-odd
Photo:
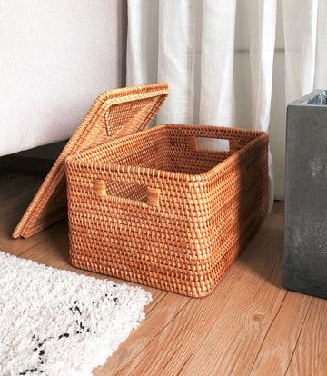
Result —
[{"label": "shaded right side panel of the rattan basket", "polygon": [[[217,281],[257,232],[268,207],[268,140],[255,140],[212,177],[211,247]],[[218,269],[217,269],[218,270]]]}]

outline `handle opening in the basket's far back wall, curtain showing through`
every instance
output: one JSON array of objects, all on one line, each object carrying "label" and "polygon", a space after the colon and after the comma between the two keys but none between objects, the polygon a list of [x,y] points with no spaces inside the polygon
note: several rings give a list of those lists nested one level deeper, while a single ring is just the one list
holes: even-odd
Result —
[{"label": "handle opening in the basket's far back wall, curtain showing through", "polygon": [[240,140],[214,137],[190,137],[190,146],[199,152],[236,152],[240,149]]}]

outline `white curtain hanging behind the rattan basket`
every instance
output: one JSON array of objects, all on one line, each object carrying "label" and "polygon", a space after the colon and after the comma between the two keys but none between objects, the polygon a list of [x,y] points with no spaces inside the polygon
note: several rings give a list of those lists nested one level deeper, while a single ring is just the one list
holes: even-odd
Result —
[{"label": "white curtain hanging behind the rattan basket", "polygon": [[269,131],[282,199],[286,104],[327,86],[326,23],[327,0],[128,0],[127,85],[170,84],[158,123]]}]

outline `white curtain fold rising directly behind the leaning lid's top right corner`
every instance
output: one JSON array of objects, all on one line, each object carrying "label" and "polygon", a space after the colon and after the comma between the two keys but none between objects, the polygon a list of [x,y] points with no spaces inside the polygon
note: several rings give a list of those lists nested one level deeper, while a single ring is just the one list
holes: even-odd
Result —
[{"label": "white curtain fold rising directly behind the leaning lid's top right corner", "polygon": [[[158,81],[170,84],[170,97],[158,114],[160,123],[192,122],[193,29],[196,3],[159,2]],[[178,20],[178,22],[176,22]],[[175,77],[178,76],[178,80]]]}]

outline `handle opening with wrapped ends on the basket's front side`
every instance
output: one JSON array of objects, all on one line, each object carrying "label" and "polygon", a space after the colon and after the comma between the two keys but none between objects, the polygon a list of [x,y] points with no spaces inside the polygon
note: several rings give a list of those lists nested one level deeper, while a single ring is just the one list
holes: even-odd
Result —
[{"label": "handle opening with wrapped ends on the basket's front side", "polygon": [[133,203],[146,203],[149,206],[159,206],[160,189],[150,188],[140,184],[108,182],[103,179],[94,179],[94,195],[122,197]]}]

